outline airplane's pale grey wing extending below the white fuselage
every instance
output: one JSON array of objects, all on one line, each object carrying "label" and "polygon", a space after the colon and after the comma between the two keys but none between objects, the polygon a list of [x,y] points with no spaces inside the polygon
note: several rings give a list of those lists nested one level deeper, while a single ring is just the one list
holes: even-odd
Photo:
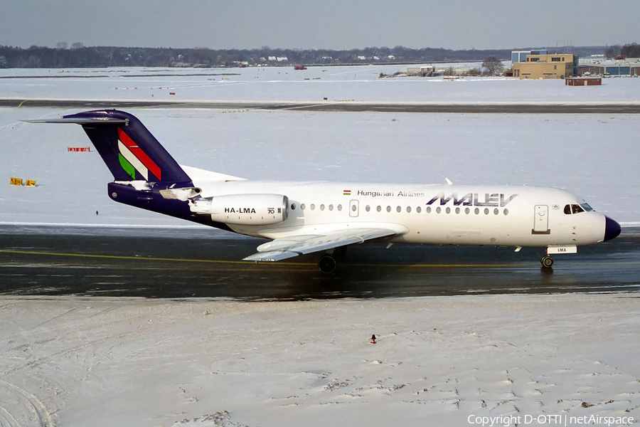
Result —
[{"label": "airplane's pale grey wing extending below the white fuselage", "polygon": [[247,256],[244,260],[279,261],[305,253],[326,251],[396,234],[400,234],[398,230],[390,228],[346,228],[324,234],[281,237],[258,246],[258,252]]}]

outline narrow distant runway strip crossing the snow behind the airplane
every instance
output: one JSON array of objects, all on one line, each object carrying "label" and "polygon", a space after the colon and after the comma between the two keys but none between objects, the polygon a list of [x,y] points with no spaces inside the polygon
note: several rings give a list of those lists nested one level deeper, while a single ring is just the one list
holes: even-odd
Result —
[{"label": "narrow distant runway strip crossing the snow behind the airplane", "polygon": [[80,100],[0,98],[0,107],[50,108],[211,108],[228,110],[302,110],[340,112],[420,112],[486,114],[639,114],[640,104],[629,102],[336,102],[225,100]]}]

